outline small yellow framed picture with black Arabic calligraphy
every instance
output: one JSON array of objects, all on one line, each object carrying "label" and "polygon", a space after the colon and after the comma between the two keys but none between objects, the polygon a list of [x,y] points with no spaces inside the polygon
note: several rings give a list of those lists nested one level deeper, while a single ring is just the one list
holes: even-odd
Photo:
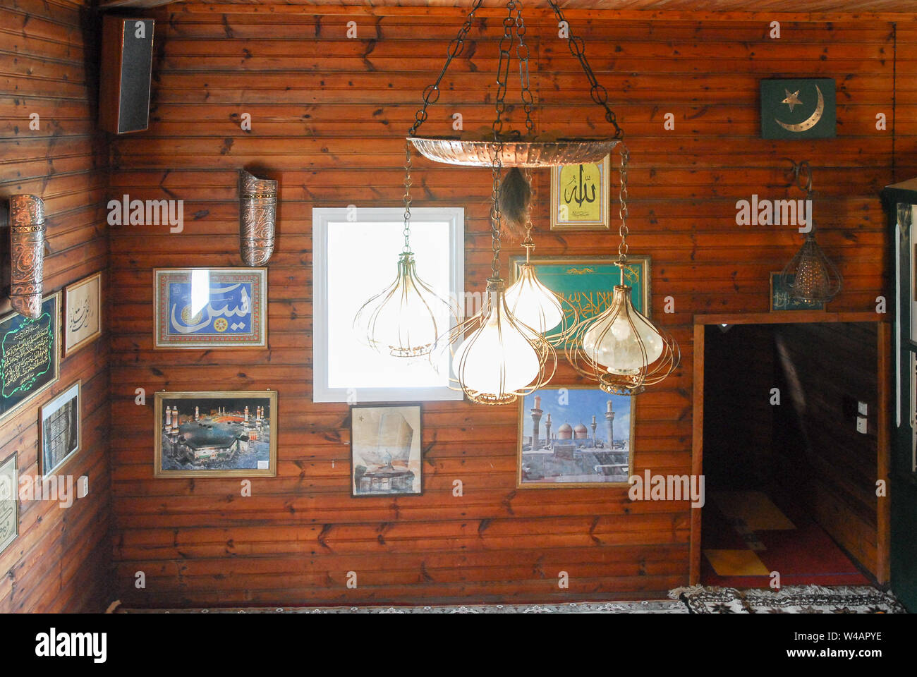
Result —
[{"label": "small yellow framed picture with black Arabic calligraphy", "polygon": [[611,160],[551,168],[551,230],[607,230]]}]

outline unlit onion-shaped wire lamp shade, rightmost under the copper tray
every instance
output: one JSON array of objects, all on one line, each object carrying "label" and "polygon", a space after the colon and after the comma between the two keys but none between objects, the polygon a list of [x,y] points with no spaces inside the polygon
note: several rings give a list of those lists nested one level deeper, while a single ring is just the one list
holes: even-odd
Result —
[{"label": "unlit onion-shaped wire lamp shade, rightmost under the copper tray", "polygon": [[678,345],[631,303],[631,287],[614,286],[602,314],[574,327],[569,360],[606,393],[637,394],[679,364]]}]

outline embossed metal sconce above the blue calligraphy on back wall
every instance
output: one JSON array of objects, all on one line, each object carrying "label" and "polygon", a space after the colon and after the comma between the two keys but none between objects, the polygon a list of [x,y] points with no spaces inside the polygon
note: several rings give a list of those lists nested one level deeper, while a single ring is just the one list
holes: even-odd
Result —
[{"label": "embossed metal sconce above the blue calligraphy on back wall", "polygon": [[277,182],[238,171],[238,239],[242,262],[263,266],[274,251]]}]

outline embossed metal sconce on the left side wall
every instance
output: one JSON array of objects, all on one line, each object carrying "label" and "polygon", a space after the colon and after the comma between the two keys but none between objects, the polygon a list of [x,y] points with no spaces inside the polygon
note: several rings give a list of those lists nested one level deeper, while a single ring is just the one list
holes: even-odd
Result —
[{"label": "embossed metal sconce on the left side wall", "polygon": [[45,203],[35,195],[9,198],[10,289],[13,310],[37,319],[45,272]]}]

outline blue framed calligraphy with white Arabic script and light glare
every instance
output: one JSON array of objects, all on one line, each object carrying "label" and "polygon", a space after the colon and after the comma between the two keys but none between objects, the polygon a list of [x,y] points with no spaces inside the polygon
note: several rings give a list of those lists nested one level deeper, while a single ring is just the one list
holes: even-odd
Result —
[{"label": "blue framed calligraphy with white Arabic script and light glare", "polygon": [[153,271],[156,349],[267,348],[266,268]]}]

